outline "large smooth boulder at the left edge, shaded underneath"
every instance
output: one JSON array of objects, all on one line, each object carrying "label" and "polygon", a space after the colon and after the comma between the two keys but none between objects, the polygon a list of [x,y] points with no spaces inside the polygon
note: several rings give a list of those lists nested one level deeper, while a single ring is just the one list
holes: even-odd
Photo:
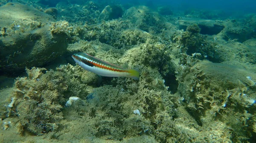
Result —
[{"label": "large smooth boulder at the left edge, shaded underneath", "polygon": [[0,13],[0,72],[42,66],[66,50],[67,34],[52,32],[48,14],[20,3],[7,3]]}]

